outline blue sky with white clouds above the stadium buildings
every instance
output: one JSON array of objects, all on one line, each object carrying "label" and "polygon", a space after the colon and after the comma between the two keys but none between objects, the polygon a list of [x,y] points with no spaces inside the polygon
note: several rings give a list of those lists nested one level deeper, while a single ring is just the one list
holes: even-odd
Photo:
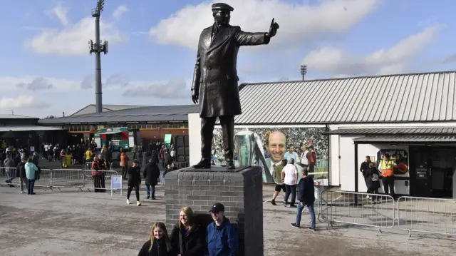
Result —
[{"label": "blue sky with white clouds above the stadium buildings", "polygon": [[[95,103],[96,0],[0,0],[0,114],[68,116]],[[196,48],[216,1],[106,0],[103,104],[190,104]],[[455,70],[456,1],[229,0],[243,31],[239,83]],[[316,99],[318,101],[318,99]]]}]

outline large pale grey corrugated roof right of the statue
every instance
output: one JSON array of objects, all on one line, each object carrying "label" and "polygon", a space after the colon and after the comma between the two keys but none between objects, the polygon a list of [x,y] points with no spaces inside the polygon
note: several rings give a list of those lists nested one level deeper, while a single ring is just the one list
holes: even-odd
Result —
[{"label": "large pale grey corrugated roof right of the statue", "polygon": [[456,71],[247,83],[237,124],[456,120]]}]

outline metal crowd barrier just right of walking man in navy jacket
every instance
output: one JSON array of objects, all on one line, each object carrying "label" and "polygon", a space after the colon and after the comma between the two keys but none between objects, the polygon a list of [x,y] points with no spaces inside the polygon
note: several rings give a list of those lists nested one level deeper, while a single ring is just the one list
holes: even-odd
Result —
[{"label": "metal crowd barrier just right of walking man in navy jacket", "polygon": [[[324,190],[321,198],[321,217],[333,226],[335,222],[382,228],[395,225],[394,199],[390,195]],[[369,195],[375,200],[367,199]],[[324,207],[323,207],[324,205]]]}]

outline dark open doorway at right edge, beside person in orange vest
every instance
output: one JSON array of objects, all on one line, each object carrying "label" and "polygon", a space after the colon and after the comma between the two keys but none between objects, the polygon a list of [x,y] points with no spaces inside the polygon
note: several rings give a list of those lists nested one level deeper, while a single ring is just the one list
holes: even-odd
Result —
[{"label": "dark open doorway at right edge, beside person in orange vest", "polygon": [[410,195],[452,198],[455,158],[454,148],[410,145]]}]

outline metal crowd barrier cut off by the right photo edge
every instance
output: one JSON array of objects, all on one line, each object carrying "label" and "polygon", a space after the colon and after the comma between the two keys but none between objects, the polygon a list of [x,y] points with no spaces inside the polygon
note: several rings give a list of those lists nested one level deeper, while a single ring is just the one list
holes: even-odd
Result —
[{"label": "metal crowd barrier cut off by the right photo edge", "polygon": [[456,200],[400,197],[398,227],[408,231],[408,239],[412,231],[456,235]]}]

